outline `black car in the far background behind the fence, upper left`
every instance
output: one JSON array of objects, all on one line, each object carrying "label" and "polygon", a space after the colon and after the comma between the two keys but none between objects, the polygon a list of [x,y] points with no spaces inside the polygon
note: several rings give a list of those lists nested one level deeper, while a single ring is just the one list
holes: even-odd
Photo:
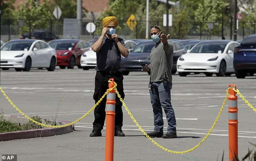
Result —
[{"label": "black car in the far background behind the fence, upper left", "polygon": [[[43,30],[35,30],[30,33],[31,39],[40,39],[44,41],[51,41],[53,39],[58,39],[52,32],[47,32]],[[20,39],[29,39],[29,33],[24,33],[21,35]]]}]

